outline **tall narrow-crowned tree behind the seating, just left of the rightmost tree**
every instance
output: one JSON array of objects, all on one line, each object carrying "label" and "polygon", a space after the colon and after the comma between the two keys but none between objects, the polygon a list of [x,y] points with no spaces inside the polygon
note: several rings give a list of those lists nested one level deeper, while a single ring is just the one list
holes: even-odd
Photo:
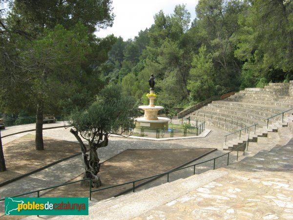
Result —
[{"label": "tall narrow-crowned tree behind the seating, just left of the rightmost tree", "polygon": [[199,0],[195,9],[198,20],[194,28],[199,28],[202,43],[212,54],[220,93],[239,85],[241,63],[234,50],[242,5],[241,0]]}]

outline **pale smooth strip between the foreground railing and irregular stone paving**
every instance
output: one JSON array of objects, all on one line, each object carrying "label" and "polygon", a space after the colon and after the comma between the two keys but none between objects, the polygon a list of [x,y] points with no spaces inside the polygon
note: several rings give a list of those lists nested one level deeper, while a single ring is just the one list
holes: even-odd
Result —
[{"label": "pale smooth strip between the foreground railing and irregular stone paving", "polygon": [[[163,184],[145,191],[125,195],[124,197],[112,200],[112,202],[108,202],[107,206],[103,208],[101,207],[103,203],[100,202],[89,207],[89,217],[98,217],[103,220],[132,219],[160,205],[182,197],[227,174],[228,172],[222,168],[210,170],[172,184],[172,187],[170,187],[171,184]],[[74,219],[74,216],[58,216],[54,219]]]}]

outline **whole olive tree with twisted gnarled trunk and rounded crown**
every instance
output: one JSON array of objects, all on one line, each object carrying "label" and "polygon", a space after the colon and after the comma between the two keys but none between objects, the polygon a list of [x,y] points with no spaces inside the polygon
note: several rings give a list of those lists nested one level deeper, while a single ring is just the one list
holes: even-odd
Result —
[{"label": "whole olive tree with twisted gnarled trunk and rounded crown", "polygon": [[[133,106],[134,100],[130,96],[122,95],[117,86],[108,86],[87,108],[72,111],[70,132],[80,143],[84,160],[83,178],[91,178],[92,187],[102,184],[98,176],[101,163],[97,150],[108,145],[113,131],[119,130],[122,134],[134,128],[134,119],[131,118]],[[89,154],[82,138],[88,143]]]}]

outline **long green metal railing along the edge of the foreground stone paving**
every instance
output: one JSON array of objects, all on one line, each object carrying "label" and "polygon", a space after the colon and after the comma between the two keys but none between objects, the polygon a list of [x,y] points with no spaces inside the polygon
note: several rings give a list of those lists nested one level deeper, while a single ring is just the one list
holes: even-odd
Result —
[{"label": "long green metal railing along the edge of the foreground stone paving", "polygon": [[[55,185],[55,186],[51,186],[51,187],[47,187],[47,188],[43,188],[43,189],[39,189],[39,190],[34,190],[34,191],[31,191],[31,192],[28,192],[28,193],[23,193],[23,194],[19,194],[19,195],[16,195],[16,196],[10,196],[10,197],[11,198],[21,197],[21,196],[25,196],[25,195],[29,195],[29,194],[33,194],[33,193],[37,193],[37,197],[40,197],[40,192],[42,192],[42,191],[49,190],[49,189],[55,189],[55,188],[58,188],[60,186],[65,186],[65,185],[69,185],[69,184],[73,184],[73,183],[77,183],[77,182],[82,182],[82,181],[85,181],[85,180],[90,180],[90,184],[89,184],[89,199],[90,200],[91,200],[91,197],[92,197],[92,193],[94,193],[94,192],[98,192],[98,191],[102,191],[102,190],[106,190],[106,189],[110,189],[110,188],[115,188],[115,187],[123,186],[123,185],[126,185],[126,184],[132,184],[132,191],[135,192],[135,183],[136,182],[139,182],[139,181],[142,181],[142,180],[146,180],[146,179],[156,178],[156,177],[160,177],[160,176],[165,176],[165,175],[167,175],[167,182],[169,182],[169,174],[170,173],[173,173],[173,172],[176,172],[176,171],[179,171],[179,170],[183,170],[183,169],[187,169],[187,168],[190,168],[190,167],[193,167],[193,175],[195,175],[195,167],[197,165],[200,165],[200,164],[203,164],[203,163],[207,163],[209,161],[213,161],[213,170],[215,170],[216,159],[218,159],[220,157],[223,157],[225,155],[228,155],[228,157],[227,157],[227,166],[229,166],[229,158],[230,158],[230,153],[231,152],[233,152],[233,151],[230,151],[230,152],[228,152],[226,154],[222,154],[220,156],[211,158],[209,160],[205,160],[203,162],[199,162],[199,163],[196,163],[196,164],[189,165],[187,167],[183,167],[183,168],[171,170],[171,171],[168,171],[168,172],[165,172],[165,173],[162,173],[162,174],[158,174],[158,175],[154,175],[154,176],[148,176],[148,177],[145,177],[145,178],[136,179],[136,180],[133,180],[133,181],[129,181],[129,182],[122,183],[122,184],[118,184],[118,185],[114,185],[114,186],[105,187],[105,188],[102,188],[102,189],[92,190],[92,188],[91,188],[92,179],[91,178],[84,178],[84,179],[81,179],[81,180],[77,180],[77,181],[73,181],[73,182],[68,182],[68,183],[64,183],[64,184],[60,184],[60,185]],[[237,161],[238,161],[238,152],[239,152],[239,147],[237,148],[237,159],[236,159]],[[244,152],[243,152],[243,155],[245,155]],[[5,198],[0,198],[0,201],[3,201],[3,200],[5,200]]]}]

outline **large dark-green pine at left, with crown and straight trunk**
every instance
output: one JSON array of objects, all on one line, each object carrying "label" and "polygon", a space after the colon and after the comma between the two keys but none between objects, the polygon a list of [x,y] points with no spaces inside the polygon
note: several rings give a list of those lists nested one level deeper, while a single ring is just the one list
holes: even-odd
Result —
[{"label": "large dark-green pine at left, with crown and straight trunk", "polygon": [[[5,97],[14,96],[14,93],[19,92],[21,100],[35,106],[37,109],[36,149],[42,150],[43,112],[50,111],[50,108],[53,109],[59,103],[60,99],[66,94],[66,92],[63,93],[66,91],[64,86],[71,92],[74,89],[80,89],[86,74],[90,73],[93,67],[99,63],[105,62],[107,58],[106,56],[100,56],[99,59],[94,59],[93,54],[89,53],[88,46],[90,45],[92,51],[97,54],[97,51],[101,52],[99,44],[103,47],[107,46],[105,48],[109,49],[108,45],[113,43],[110,38],[103,41],[96,39],[93,35],[97,28],[112,25],[111,0],[15,0],[11,1],[11,5],[12,11],[6,20],[7,30],[4,28],[9,35],[5,38],[9,41],[4,47],[6,52],[3,53],[5,63],[2,77],[12,79],[12,83],[3,86],[2,89],[5,90],[6,95],[1,95],[0,98],[5,106],[17,110],[16,106],[10,105],[11,102],[7,102],[8,99]],[[81,30],[76,24],[85,27],[84,33],[74,33],[74,28]],[[54,32],[56,32],[56,35],[54,35]],[[21,33],[21,36],[15,33]],[[66,34],[70,35],[70,33],[71,36],[66,39]],[[74,39],[74,34],[77,34],[75,37],[79,41]],[[84,44],[85,41],[87,41],[87,44]],[[84,48],[82,48],[82,44],[84,44]],[[58,46],[60,48],[57,48]],[[7,52],[8,49],[11,51]],[[86,60],[84,59],[85,54],[87,54]],[[107,54],[107,51],[101,54]],[[101,59],[101,57],[103,58]],[[74,68],[77,63],[79,63],[79,67]],[[9,67],[9,71],[7,71],[7,67]],[[14,77],[11,78],[10,75]],[[78,79],[79,77],[80,79]],[[72,80],[73,78],[75,80]],[[95,78],[92,77],[91,79]],[[69,87],[69,82],[73,84],[73,87]],[[97,81],[94,80],[93,82],[99,85]],[[54,88],[52,85],[55,88],[60,85],[63,86],[57,90],[60,92],[52,92]],[[16,88],[16,91],[12,90],[14,88]],[[34,92],[30,92],[31,88],[35,89]],[[63,92],[61,92],[62,90]],[[48,95],[49,91],[51,91],[50,95]],[[50,98],[53,97],[55,99],[52,102]],[[52,103],[54,104],[52,105]],[[25,103],[22,106],[21,104],[21,102],[18,104],[18,107],[21,107],[19,109],[26,110],[23,108]]]}]

